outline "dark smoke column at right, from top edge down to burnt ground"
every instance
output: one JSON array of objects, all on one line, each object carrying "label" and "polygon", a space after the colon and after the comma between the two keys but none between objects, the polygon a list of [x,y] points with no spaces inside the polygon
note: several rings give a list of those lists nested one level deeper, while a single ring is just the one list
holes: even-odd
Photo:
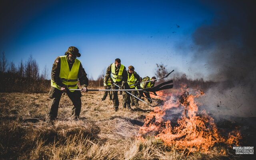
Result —
[{"label": "dark smoke column at right, from top edge down to burnt ground", "polygon": [[227,112],[255,116],[256,1],[214,1],[210,6],[216,11],[214,20],[193,34],[195,59],[206,61],[213,72],[210,79],[220,82],[208,92],[215,99],[208,101],[212,99],[211,106],[218,102],[218,108],[222,103]]}]

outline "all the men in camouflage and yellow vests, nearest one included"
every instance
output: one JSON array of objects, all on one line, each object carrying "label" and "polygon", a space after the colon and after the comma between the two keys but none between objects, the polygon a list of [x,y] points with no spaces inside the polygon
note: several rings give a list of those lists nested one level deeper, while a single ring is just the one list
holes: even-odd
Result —
[{"label": "all the men in camouflage and yellow vests, nearest one included", "polygon": [[[48,114],[46,116],[46,122],[55,120],[58,115],[58,106],[60,98],[63,92],[66,92],[74,107],[72,108],[72,118],[74,120],[79,119],[81,111],[81,92],[88,92],[87,86],[89,80],[87,74],[82,67],[81,62],[76,59],[80,57],[79,50],[71,46],[65,52],[64,56],[58,56],[54,61],[51,73],[51,89],[49,92],[49,98],[52,102],[49,105]],[[77,89],[78,80],[82,86],[81,92]],[[121,64],[119,58],[115,59],[115,62],[110,64],[106,70],[106,76],[104,77],[105,89],[118,90],[122,89],[145,89],[154,87],[156,77],[141,78],[135,71],[133,66],[129,66],[128,70]],[[119,100],[117,91],[105,91],[102,100],[105,100],[108,93],[110,94],[110,100],[113,101],[115,111],[118,111]],[[156,93],[154,93],[156,95]],[[144,96],[148,99],[149,103],[152,103],[149,92],[146,91],[125,91],[123,96],[123,107],[131,110],[132,105],[138,107],[138,99]]]}]

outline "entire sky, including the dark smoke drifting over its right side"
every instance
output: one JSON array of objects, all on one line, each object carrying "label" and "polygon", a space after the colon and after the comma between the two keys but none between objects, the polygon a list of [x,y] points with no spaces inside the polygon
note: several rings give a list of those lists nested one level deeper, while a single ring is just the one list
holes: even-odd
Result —
[{"label": "entire sky, including the dark smoke drifting over its right side", "polygon": [[255,0],[2,0],[0,52],[15,64],[32,54],[49,78],[69,46],[80,50],[94,79],[116,58],[141,77],[154,76],[156,63],[163,63],[176,75],[223,81],[208,93],[211,108],[225,97],[225,105],[244,104],[241,111],[252,116],[255,8]]}]

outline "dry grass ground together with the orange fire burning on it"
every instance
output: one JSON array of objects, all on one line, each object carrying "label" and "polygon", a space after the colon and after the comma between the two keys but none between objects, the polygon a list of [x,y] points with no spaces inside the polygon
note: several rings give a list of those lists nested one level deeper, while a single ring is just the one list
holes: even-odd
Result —
[{"label": "dry grass ground together with the orange fire burning on it", "polygon": [[[102,92],[82,96],[79,121],[68,118],[71,116],[72,102],[67,96],[62,96],[58,120],[47,124],[44,122],[50,103],[47,94],[0,93],[1,159],[236,158],[229,154],[226,147],[228,145],[222,143],[223,137],[216,131],[217,126],[212,118],[207,114],[198,114],[196,106],[193,109],[177,105],[178,99],[175,102],[172,98],[163,107],[156,107],[154,110],[140,103],[140,108],[133,106],[134,110],[129,112],[122,108],[122,96],[119,96],[120,109],[115,112],[111,101],[100,101],[102,96]],[[174,96],[169,95],[168,98],[170,97]],[[194,103],[190,100],[184,102]],[[177,114],[178,111],[181,114]],[[200,125],[194,124],[201,119],[205,121]],[[192,141],[193,136],[197,138],[196,143]],[[228,134],[226,137],[228,138]],[[237,138],[238,132],[230,132],[230,137]],[[238,139],[227,143],[234,144],[239,142]],[[188,145],[193,147],[189,148]]]}]

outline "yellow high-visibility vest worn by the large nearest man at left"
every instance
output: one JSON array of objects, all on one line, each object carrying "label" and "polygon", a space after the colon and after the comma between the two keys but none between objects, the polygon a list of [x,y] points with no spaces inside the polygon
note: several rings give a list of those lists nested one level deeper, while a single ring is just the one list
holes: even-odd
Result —
[{"label": "yellow high-visibility vest worn by the large nearest man at left", "polygon": [[[68,86],[68,89],[77,89],[78,82],[78,70],[80,66],[80,61],[75,59],[75,62],[69,70],[67,56],[60,56],[60,79],[61,82]],[[60,86],[58,86],[53,80],[51,80],[51,86],[60,90]],[[74,90],[70,90],[70,92],[74,92]]]}]

